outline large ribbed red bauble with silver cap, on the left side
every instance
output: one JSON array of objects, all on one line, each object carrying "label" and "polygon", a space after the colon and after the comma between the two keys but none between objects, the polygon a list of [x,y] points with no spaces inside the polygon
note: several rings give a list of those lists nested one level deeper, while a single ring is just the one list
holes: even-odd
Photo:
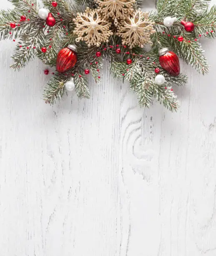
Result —
[{"label": "large ribbed red bauble with silver cap, on the left side", "polygon": [[76,47],[68,45],[68,47],[60,50],[57,56],[56,69],[58,72],[63,73],[72,69],[77,62]]}]

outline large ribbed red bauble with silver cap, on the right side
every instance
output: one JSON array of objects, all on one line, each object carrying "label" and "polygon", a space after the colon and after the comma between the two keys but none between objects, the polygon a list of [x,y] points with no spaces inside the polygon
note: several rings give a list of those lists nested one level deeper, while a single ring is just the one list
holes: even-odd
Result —
[{"label": "large ribbed red bauble with silver cap, on the right side", "polygon": [[163,69],[172,76],[178,76],[180,74],[179,59],[174,52],[169,51],[168,48],[163,48],[159,51],[159,56],[159,61]]}]

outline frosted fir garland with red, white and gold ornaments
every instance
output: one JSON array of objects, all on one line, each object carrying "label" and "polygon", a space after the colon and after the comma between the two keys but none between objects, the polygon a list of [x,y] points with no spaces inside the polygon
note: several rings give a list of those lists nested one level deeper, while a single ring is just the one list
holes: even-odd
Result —
[{"label": "frosted fir garland with red, white and gold ornaments", "polygon": [[11,67],[20,70],[35,56],[56,67],[46,103],[73,90],[89,98],[88,76],[100,81],[104,59],[114,77],[129,82],[140,105],[149,107],[156,98],[171,111],[179,106],[171,86],[187,80],[178,56],[208,72],[199,39],[216,34],[210,0],[158,0],[155,12],[141,10],[142,0],[8,1],[15,8],[0,11],[0,40],[17,42]]}]

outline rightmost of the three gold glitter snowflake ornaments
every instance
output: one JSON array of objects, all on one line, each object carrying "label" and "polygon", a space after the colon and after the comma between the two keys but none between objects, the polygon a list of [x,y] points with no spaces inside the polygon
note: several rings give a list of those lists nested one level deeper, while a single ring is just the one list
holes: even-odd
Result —
[{"label": "rightmost of the three gold glitter snowflake ornaments", "polygon": [[155,32],[153,24],[148,19],[148,13],[137,10],[132,17],[121,22],[117,34],[121,36],[122,44],[143,48],[145,44],[151,44],[150,36]]}]

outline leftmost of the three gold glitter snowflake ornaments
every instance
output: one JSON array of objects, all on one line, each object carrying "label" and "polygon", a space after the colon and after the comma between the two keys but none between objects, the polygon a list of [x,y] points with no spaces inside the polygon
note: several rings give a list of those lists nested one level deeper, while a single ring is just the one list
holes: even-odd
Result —
[{"label": "leftmost of the three gold glitter snowflake ornaments", "polygon": [[109,41],[113,35],[110,31],[111,23],[101,17],[98,10],[87,8],[85,13],[77,13],[73,19],[76,27],[73,31],[78,37],[76,42],[85,41],[90,46],[100,46],[101,43]]}]

